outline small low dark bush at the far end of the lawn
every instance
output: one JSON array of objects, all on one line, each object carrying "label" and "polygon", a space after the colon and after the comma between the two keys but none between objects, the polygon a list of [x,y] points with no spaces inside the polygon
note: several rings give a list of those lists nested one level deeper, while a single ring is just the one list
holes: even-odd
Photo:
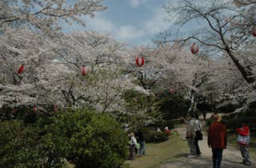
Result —
[{"label": "small low dark bush at the far end of the lawn", "polygon": [[152,129],[153,128],[147,128],[143,130],[146,142],[164,142],[168,139],[168,135],[165,131],[158,132]]}]

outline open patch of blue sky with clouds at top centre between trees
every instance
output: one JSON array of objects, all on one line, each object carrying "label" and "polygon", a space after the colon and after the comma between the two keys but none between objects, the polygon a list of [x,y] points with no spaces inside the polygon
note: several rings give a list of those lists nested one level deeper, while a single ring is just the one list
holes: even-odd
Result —
[{"label": "open patch of blue sky with clouds at top centre between trees", "polygon": [[105,0],[108,9],[86,18],[86,28],[71,26],[66,31],[94,30],[130,46],[152,44],[155,34],[172,26],[166,22],[163,8],[167,2],[170,0]]}]

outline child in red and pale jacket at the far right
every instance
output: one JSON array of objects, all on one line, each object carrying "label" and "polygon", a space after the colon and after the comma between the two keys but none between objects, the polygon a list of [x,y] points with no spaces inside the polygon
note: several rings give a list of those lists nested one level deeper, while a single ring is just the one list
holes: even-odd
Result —
[{"label": "child in red and pale jacket at the far right", "polygon": [[238,133],[238,144],[240,146],[240,151],[242,154],[243,161],[242,163],[246,166],[250,166],[250,154],[248,150],[248,146],[250,143],[250,129],[246,122],[242,123],[241,128],[236,129]]}]

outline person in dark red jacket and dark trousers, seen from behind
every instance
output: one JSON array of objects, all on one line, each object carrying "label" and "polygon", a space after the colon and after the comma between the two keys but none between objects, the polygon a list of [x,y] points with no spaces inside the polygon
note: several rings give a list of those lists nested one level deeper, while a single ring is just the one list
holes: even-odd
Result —
[{"label": "person in dark red jacket and dark trousers, seen from behind", "polygon": [[208,130],[208,146],[213,152],[213,168],[220,168],[222,164],[222,153],[226,149],[226,126],[221,122],[218,114],[213,116],[214,122]]}]

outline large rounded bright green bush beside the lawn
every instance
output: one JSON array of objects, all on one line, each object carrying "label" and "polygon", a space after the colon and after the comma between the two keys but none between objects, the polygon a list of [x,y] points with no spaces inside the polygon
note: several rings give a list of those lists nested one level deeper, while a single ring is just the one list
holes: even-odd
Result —
[{"label": "large rounded bright green bush beside the lawn", "polygon": [[127,135],[107,115],[71,111],[59,114],[52,128],[48,147],[57,154],[61,151],[76,167],[118,167],[126,159]]}]

